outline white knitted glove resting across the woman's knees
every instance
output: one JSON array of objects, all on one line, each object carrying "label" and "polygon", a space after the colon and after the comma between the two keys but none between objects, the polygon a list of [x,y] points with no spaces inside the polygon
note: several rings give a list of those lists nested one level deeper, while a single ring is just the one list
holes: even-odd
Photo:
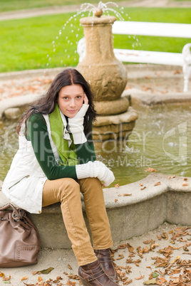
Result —
[{"label": "white knitted glove resting across the woman's knees", "polygon": [[98,178],[104,182],[104,186],[109,186],[114,180],[113,171],[110,171],[101,161],[88,161],[86,164],[76,165],[78,179]]}]

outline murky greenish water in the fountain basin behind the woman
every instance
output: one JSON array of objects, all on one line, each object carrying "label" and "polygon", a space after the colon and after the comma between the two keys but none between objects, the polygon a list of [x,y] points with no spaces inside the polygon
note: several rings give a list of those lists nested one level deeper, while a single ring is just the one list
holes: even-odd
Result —
[{"label": "murky greenish water in the fountain basin behind the woman", "polygon": [[[191,122],[189,105],[136,106],[139,118],[125,141],[104,142],[96,147],[97,159],[115,174],[112,184],[129,184],[148,176],[150,168],[160,173],[191,176]],[[6,176],[18,148],[16,122],[0,127],[0,179]]]}]

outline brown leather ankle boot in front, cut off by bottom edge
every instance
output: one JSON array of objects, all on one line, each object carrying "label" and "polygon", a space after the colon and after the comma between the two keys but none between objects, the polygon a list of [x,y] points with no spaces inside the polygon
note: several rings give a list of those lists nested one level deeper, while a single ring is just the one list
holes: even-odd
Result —
[{"label": "brown leather ankle boot in front, cut off by bottom edge", "polygon": [[93,263],[80,266],[78,269],[78,276],[84,286],[115,286],[118,285],[110,277],[105,274],[100,267],[98,260]]}]

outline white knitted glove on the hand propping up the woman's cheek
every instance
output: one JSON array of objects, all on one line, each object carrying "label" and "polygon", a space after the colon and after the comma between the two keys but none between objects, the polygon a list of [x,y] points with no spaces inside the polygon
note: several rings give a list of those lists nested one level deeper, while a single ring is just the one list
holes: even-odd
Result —
[{"label": "white knitted glove on the hand propping up the woman's cheek", "polygon": [[83,119],[86,115],[89,105],[82,105],[81,109],[73,118],[68,118],[68,129],[73,134],[73,143],[82,144],[87,141],[83,132]]}]

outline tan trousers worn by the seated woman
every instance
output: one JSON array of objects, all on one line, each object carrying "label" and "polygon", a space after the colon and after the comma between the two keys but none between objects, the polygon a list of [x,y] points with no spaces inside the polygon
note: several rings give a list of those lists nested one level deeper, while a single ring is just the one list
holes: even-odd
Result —
[{"label": "tan trousers worn by the seated woman", "polygon": [[[83,219],[81,193],[93,246]],[[100,181],[96,178],[47,180],[43,186],[43,206],[58,201],[61,201],[63,221],[78,265],[93,263],[97,260],[93,249],[105,249],[113,245]]]}]

